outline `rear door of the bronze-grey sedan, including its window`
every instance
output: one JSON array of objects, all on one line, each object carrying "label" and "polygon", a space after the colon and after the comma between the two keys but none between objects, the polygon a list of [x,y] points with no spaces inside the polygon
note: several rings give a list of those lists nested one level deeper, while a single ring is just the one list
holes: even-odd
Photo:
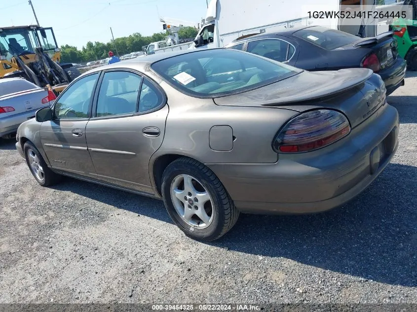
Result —
[{"label": "rear door of the bronze-grey sedan, including its window", "polygon": [[97,177],[152,193],[149,161],[162,144],[167,114],[156,83],[137,72],[106,71],[86,128]]}]

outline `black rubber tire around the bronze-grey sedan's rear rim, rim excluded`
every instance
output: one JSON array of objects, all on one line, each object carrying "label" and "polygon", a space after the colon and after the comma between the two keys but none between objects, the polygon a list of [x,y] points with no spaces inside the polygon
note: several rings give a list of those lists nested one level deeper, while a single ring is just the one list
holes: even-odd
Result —
[{"label": "black rubber tire around the bronze-grey sedan's rear rim, rim excluded", "polygon": [[[210,208],[213,218],[206,228],[202,229],[190,226],[174,207],[171,197],[171,184],[181,174],[190,175],[193,181],[201,184],[211,197]],[[162,175],[162,198],[172,221],[187,236],[198,241],[214,241],[219,239],[235,225],[239,216],[239,211],[234,206],[233,201],[219,178],[203,164],[186,157],[181,157],[173,161],[165,169]],[[182,205],[184,209],[187,209],[184,203]]]}]

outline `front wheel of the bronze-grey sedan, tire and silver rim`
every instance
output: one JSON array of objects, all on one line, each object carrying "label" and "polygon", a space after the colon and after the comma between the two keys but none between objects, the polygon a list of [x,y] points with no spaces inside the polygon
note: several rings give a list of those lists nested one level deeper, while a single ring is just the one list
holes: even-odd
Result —
[{"label": "front wheel of the bronze-grey sedan, tire and silver rim", "polygon": [[50,186],[61,179],[61,175],[54,173],[48,168],[38,149],[31,142],[26,142],[23,149],[26,163],[40,185]]}]

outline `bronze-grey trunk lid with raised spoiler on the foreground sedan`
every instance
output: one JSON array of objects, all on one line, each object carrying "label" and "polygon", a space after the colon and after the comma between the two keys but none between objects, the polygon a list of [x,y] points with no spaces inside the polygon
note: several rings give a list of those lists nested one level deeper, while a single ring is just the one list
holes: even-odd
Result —
[{"label": "bronze-grey trunk lid with raised spoiler on the foreground sedan", "polygon": [[217,105],[285,108],[299,112],[332,108],[343,112],[353,128],[385,102],[383,88],[382,79],[370,69],[303,71],[256,90],[213,100]]}]

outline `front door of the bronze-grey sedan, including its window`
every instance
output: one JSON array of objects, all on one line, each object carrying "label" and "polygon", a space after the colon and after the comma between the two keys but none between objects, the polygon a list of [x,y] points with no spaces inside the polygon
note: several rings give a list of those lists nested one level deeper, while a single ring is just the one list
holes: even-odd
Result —
[{"label": "front door of the bronze-grey sedan, including its window", "polygon": [[85,126],[99,75],[87,75],[69,86],[53,105],[53,119],[41,124],[40,139],[52,168],[79,175],[95,174]]}]

